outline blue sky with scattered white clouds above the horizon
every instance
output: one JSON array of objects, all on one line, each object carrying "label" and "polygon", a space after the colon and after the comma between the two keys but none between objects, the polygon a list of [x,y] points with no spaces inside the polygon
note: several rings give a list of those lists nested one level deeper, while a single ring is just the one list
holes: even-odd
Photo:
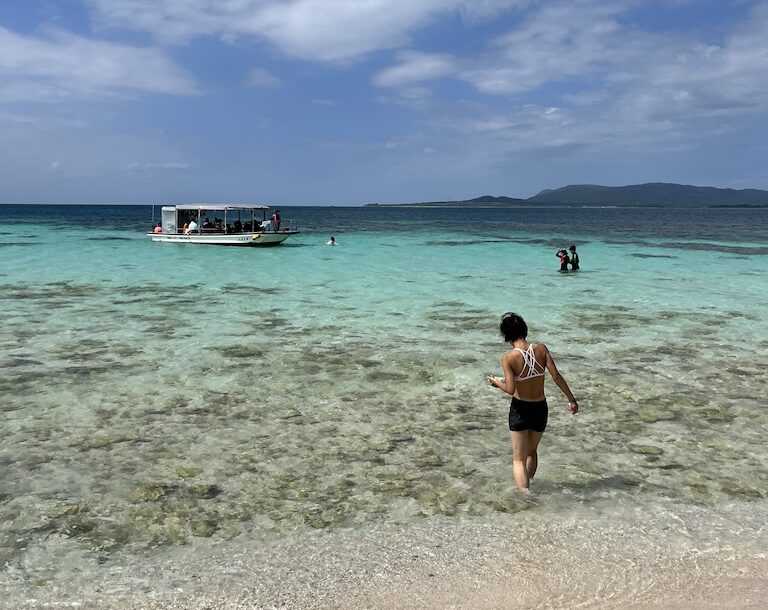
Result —
[{"label": "blue sky with scattered white clouds above the horizon", "polygon": [[768,189],[768,0],[0,0],[0,203]]}]

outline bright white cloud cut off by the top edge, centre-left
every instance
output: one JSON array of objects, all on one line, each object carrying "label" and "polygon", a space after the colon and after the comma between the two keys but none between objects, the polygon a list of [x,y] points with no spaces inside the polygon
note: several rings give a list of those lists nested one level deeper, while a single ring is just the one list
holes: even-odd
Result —
[{"label": "bright white cloud cut off by the top edge, centre-left", "polygon": [[149,32],[159,40],[256,36],[283,53],[344,62],[401,47],[441,15],[490,18],[527,0],[87,0],[104,28]]}]

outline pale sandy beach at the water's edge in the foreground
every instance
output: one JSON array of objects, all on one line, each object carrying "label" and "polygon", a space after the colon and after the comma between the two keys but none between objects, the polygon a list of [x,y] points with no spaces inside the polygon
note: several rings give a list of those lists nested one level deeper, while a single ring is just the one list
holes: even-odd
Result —
[{"label": "pale sandy beach at the water's edge in the foreground", "polygon": [[[738,518],[738,510],[735,513]],[[4,608],[760,608],[766,531],[715,514],[436,519],[235,545],[28,589]],[[722,542],[730,531],[730,543]]]}]

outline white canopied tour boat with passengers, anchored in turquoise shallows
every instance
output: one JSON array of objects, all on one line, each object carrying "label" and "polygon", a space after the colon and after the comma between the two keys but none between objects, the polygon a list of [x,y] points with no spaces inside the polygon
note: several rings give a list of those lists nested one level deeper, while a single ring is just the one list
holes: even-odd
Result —
[{"label": "white canopied tour boat with passengers, anchored in turquoise shallows", "polygon": [[217,246],[276,246],[299,234],[297,227],[275,227],[266,205],[188,203],[164,205],[152,241]]}]

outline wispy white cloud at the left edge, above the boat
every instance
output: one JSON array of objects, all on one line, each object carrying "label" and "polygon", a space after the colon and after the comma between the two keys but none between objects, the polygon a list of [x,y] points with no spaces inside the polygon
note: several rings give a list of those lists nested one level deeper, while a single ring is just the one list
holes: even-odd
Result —
[{"label": "wispy white cloud at the left edge, above the boat", "polygon": [[195,93],[195,80],[162,52],[74,36],[46,38],[0,27],[0,101],[57,101],[95,94]]}]

